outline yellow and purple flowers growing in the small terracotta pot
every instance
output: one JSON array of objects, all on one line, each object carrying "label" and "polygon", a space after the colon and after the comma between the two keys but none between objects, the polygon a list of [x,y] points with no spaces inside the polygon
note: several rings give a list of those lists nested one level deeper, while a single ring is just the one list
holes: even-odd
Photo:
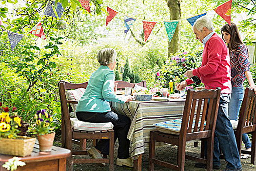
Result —
[{"label": "yellow and purple flowers growing in the small terracotta pot", "polygon": [[35,119],[37,119],[35,128],[31,129],[34,134],[45,135],[54,132],[55,126],[51,127],[53,118],[46,112],[46,109],[38,110]]}]

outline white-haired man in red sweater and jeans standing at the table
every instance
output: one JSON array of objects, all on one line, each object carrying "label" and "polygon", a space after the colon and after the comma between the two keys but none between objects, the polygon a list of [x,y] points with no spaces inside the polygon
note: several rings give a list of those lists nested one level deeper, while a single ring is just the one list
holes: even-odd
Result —
[{"label": "white-haired man in red sweater and jeans standing at the table", "polygon": [[[228,48],[223,40],[213,31],[213,23],[209,17],[204,16],[197,19],[193,29],[196,39],[204,44],[202,65],[197,69],[187,71],[185,75],[188,78],[195,75],[200,77],[207,89],[221,88],[214,140],[213,169],[220,168],[220,147],[225,160],[228,162],[225,171],[242,171],[235,134],[228,119],[228,102],[232,87]],[[177,89],[183,89],[192,83],[191,79],[187,79],[179,83]],[[206,168],[206,165],[202,163],[196,163],[195,166]]]}]

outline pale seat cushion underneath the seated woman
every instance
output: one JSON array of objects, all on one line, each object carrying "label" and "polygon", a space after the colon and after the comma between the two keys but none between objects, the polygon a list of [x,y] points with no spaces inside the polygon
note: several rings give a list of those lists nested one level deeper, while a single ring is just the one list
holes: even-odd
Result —
[{"label": "pale seat cushion underneath the seated woman", "polygon": [[70,118],[71,125],[76,130],[96,131],[113,129],[114,125],[111,122],[106,123],[91,123],[79,121],[77,118]]}]

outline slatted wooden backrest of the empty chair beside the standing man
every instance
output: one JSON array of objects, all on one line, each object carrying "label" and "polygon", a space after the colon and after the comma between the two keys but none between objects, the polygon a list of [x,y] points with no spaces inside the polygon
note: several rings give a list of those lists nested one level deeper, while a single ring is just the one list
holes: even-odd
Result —
[{"label": "slatted wooden backrest of the empty chair beside the standing man", "polygon": [[[184,136],[183,138],[185,138],[187,134],[197,133],[199,135],[198,133],[200,131],[215,130],[220,90],[220,88],[216,88],[215,90],[188,90],[179,133],[180,136]],[[206,112],[207,108],[208,112]],[[205,126],[204,121],[206,121]],[[210,134],[207,136],[210,136]]]}]

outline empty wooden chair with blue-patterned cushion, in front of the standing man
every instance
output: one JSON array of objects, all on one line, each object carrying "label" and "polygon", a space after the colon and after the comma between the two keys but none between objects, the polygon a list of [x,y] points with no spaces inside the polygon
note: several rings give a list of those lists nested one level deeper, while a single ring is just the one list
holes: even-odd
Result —
[{"label": "empty wooden chair with blue-patterned cushion, in front of the standing man", "polygon": [[[216,90],[204,89],[202,91],[188,90],[179,134],[163,133],[159,130],[150,131],[149,171],[154,171],[154,164],[177,171],[184,171],[185,156],[187,159],[207,164],[207,171],[212,171],[214,131],[217,120],[219,96],[220,88]],[[204,103],[201,113],[202,101]],[[207,106],[208,114],[206,114]],[[195,121],[194,125],[193,120]],[[200,120],[205,121],[206,124],[205,122],[199,122]],[[207,151],[209,151],[207,154],[208,160],[185,154],[186,142],[199,139],[207,140]],[[177,145],[177,165],[155,158],[155,141]]]}]

